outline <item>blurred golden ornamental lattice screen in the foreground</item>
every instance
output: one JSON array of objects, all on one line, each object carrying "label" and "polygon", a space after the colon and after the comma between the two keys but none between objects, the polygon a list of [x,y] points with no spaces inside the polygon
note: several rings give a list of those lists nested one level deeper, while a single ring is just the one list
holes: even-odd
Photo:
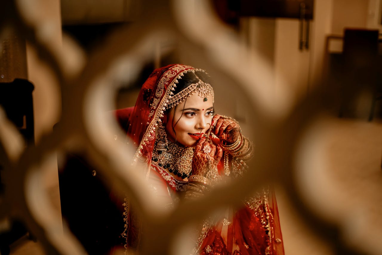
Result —
[{"label": "blurred golden ornamental lattice screen in the foreground", "polygon": [[[55,132],[45,132],[35,146],[24,147],[16,128],[0,114],[3,181],[7,184],[0,197],[2,229],[7,221],[17,218],[47,254],[85,253],[70,231],[65,227],[62,231],[62,221],[41,185],[47,161],[55,154],[81,150],[105,176],[105,185],[117,190],[121,198],[125,194],[132,198],[153,230],[145,233],[146,245],[140,254],[189,254],[190,224],[223,206],[237,204],[267,184],[275,185],[276,192],[282,194],[279,196],[294,208],[299,224],[325,245],[327,252],[382,254],[382,228],[374,213],[380,210],[380,201],[373,203],[366,197],[372,193],[356,194],[340,185],[342,180],[327,169],[330,159],[322,137],[329,127],[340,124],[325,117],[323,102],[330,105],[335,99],[324,96],[321,86],[304,98],[290,96],[288,91],[274,93],[266,86],[272,79],[269,63],[243,46],[240,36],[219,21],[208,1],[142,2],[144,8],[136,20],[116,29],[87,60],[76,50],[78,45],[55,47],[49,31],[44,30],[49,21],[38,19],[38,10],[26,1],[2,3],[0,34],[13,28],[23,35],[53,71],[62,96],[59,125]],[[125,143],[115,143],[115,135],[125,135],[108,114],[120,84],[135,79],[146,63],[155,62],[168,50],[160,47],[161,42],[169,42],[166,45],[183,63],[209,72],[217,107],[228,108],[227,115],[239,112],[240,116],[233,117],[240,117],[243,132],[256,145],[244,178],[172,209],[155,200],[139,169],[131,167],[134,150]],[[380,191],[375,187],[375,192]],[[283,217],[281,211],[282,229],[288,226]],[[295,233],[294,238],[302,237]]]}]

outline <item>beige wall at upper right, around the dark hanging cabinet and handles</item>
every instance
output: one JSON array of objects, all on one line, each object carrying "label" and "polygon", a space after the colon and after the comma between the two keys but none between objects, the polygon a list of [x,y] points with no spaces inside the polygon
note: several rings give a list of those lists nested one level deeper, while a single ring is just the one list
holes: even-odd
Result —
[{"label": "beige wall at upper right, around the dark hanging cabinet and handles", "polygon": [[[317,0],[311,22],[310,50],[298,50],[299,21],[296,19],[248,18],[244,25],[251,50],[257,50],[274,66],[275,93],[287,88],[294,96],[303,96],[319,84],[322,77],[325,42],[329,34],[343,29],[382,28],[381,0]],[[382,30],[382,29],[381,29]],[[341,51],[342,42],[333,41],[332,50]]]}]

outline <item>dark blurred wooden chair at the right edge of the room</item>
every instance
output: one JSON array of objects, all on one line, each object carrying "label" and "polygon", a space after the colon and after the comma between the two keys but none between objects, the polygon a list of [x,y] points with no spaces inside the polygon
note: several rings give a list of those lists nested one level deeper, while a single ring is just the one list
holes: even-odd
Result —
[{"label": "dark blurred wooden chair at the right edge of the room", "polygon": [[[339,101],[339,117],[354,117],[360,92],[372,94],[368,120],[374,118],[376,102],[382,99],[382,40],[378,30],[345,29],[344,36],[328,36],[325,84]],[[330,42],[343,41],[342,52],[329,52]]]}]

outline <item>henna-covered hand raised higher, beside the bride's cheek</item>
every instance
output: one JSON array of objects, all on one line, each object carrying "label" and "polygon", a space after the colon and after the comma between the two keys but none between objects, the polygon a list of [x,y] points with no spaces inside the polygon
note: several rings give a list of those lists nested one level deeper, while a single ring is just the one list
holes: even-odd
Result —
[{"label": "henna-covered hand raised higher, beside the bride's cheek", "polygon": [[216,114],[212,118],[212,130],[220,141],[235,143],[235,141],[240,138],[240,126],[238,122],[225,116]]}]

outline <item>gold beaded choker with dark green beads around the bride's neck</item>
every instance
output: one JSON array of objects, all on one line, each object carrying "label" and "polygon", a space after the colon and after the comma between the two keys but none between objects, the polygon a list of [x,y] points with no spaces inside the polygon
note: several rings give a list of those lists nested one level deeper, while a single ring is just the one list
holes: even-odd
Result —
[{"label": "gold beaded choker with dark green beads around the bride's neck", "polygon": [[180,147],[176,143],[168,141],[163,125],[158,125],[158,136],[152,153],[152,161],[167,169],[168,172],[185,179],[191,174],[193,155],[193,148]]}]

